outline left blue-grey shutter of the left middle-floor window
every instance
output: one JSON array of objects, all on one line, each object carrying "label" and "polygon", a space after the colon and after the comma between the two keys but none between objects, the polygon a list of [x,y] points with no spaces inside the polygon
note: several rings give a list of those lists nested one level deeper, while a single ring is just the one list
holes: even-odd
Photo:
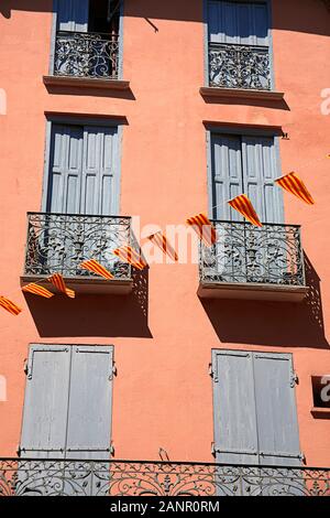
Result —
[{"label": "left blue-grey shutter of the left middle-floor window", "polygon": [[81,127],[53,125],[47,212],[79,214],[82,141]]}]

